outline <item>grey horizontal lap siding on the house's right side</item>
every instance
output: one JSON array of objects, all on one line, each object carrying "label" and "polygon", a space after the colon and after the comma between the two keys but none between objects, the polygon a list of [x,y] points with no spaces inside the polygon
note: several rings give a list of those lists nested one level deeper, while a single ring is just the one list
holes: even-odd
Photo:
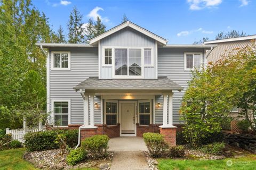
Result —
[{"label": "grey horizontal lap siding on the house's right side", "polygon": [[[167,77],[184,88],[181,92],[173,90],[173,124],[182,123],[179,109],[182,97],[188,88],[188,81],[191,80],[191,72],[184,70],[184,53],[186,52],[202,53],[204,62],[204,49],[158,48],[158,77]],[[157,96],[157,101],[163,103],[163,96]],[[155,123],[163,123],[163,108],[159,108],[158,111],[156,108]]]}]

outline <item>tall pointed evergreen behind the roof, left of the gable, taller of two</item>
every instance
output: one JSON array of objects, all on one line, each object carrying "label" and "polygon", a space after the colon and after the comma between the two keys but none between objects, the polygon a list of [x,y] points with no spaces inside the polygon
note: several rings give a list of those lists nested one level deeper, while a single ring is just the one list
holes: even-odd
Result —
[{"label": "tall pointed evergreen behind the roof, left of the gable, taller of two", "polygon": [[83,15],[80,14],[76,7],[74,7],[69,15],[68,21],[68,43],[84,43],[85,39],[82,18]]}]

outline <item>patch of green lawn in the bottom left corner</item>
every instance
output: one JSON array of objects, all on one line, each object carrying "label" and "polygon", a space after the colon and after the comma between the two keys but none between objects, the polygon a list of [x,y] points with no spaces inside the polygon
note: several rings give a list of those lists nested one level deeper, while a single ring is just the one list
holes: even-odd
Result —
[{"label": "patch of green lawn in the bottom left corner", "polygon": [[[0,151],[0,170],[38,169],[22,158],[25,148]],[[79,168],[79,170],[96,170],[97,168]]]}]

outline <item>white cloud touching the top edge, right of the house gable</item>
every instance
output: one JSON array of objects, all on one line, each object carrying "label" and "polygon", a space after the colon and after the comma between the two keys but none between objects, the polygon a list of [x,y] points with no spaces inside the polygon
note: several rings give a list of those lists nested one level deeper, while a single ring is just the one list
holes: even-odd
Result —
[{"label": "white cloud touching the top edge, right of the house gable", "polygon": [[187,0],[187,2],[190,5],[190,10],[202,10],[205,7],[218,6],[222,0]]}]

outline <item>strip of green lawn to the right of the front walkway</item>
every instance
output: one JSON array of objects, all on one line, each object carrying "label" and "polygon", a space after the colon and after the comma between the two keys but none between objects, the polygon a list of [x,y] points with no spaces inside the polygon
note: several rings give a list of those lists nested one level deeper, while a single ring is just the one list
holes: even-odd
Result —
[{"label": "strip of green lawn to the right of the front walkway", "polygon": [[[231,160],[233,162],[231,166],[227,166],[228,160]],[[243,158],[226,158],[222,160],[159,159],[158,162],[159,170],[254,170],[256,167],[256,155],[249,155]]]}]

